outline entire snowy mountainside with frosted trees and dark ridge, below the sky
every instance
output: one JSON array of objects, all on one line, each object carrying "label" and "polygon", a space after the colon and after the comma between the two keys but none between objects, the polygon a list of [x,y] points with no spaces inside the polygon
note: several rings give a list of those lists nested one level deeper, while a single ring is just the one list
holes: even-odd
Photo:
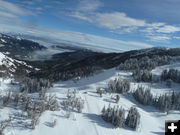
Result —
[{"label": "entire snowy mountainside with frosted trees and dark ridge, below the sky", "polygon": [[0,53],[0,133],[163,135],[180,119],[179,63],[179,48],[162,47],[44,61]]}]

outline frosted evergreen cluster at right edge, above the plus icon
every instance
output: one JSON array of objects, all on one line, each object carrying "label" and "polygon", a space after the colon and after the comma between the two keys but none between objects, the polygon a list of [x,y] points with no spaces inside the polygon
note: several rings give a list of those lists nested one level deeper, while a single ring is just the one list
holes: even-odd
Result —
[{"label": "frosted evergreen cluster at right edge, above the plus icon", "polygon": [[133,97],[143,105],[152,105],[157,109],[169,113],[170,110],[180,110],[180,92],[171,92],[159,97],[153,97],[150,88],[138,86]]}]

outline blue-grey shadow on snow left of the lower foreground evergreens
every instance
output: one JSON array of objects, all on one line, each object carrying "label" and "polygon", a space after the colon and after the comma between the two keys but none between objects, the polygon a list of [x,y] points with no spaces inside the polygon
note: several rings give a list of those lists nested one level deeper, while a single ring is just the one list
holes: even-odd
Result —
[{"label": "blue-grey shadow on snow left of the lower foreground evergreens", "polygon": [[90,114],[90,113],[83,113],[84,117],[88,118],[92,123],[95,123],[101,127],[105,128],[115,128],[112,124],[105,122],[101,115],[97,114]]}]

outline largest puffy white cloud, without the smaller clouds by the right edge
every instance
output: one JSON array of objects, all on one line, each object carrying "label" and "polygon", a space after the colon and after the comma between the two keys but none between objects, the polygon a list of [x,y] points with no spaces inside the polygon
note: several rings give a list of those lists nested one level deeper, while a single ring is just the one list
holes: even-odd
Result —
[{"label": "largest puffy white cloud, without the smaller clouds by the right edge", "polygon": [[91,12],[85,14],[79,11],[73,11],[68,14],[74,18],[88,21],[90,23],[97,24],[100,27],[105,27],[111,30],[111,32],[123,34],[130,33],[136,30],[138,27],[146,26],[146,22],[140,19],[134,19],[128,17],[122,12],[113,13],[95,13]]}]

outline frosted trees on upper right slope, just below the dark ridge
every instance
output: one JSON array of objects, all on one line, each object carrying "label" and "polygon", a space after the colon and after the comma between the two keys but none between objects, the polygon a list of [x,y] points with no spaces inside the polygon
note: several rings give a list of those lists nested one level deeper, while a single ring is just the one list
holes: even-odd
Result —
[{"label": "frosted trees on upper right slope, just below the dark ridge", "polygon": [[157,66],[166,65],[172,60],[170,56],[158,56],[154,55],[152,57],[142,57],[142,58],[132,58],[121,63],[117,69],[131,71],[134,80],[137,82],[152,82],[153,75],[151,70]]}]

